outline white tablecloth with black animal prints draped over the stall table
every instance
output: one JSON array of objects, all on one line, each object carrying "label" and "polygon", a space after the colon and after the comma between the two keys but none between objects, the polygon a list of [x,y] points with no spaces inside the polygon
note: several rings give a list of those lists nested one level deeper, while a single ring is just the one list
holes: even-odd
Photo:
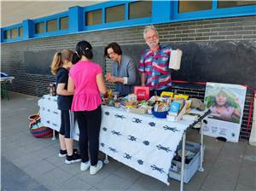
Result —
[{"label": "white tablecloth with black animal prints draped over the stall table", "polygon": [[[45,95],[38,101],[41,123],[60,130],[61,117],[57,97]],[[156,119],[152,115],[128,113],[124,109],[102,106],[100,150],[166,184],[172,158],[184,130],[191,121],[178,123]],[[79,128],[73,135],[79,139]]]}]

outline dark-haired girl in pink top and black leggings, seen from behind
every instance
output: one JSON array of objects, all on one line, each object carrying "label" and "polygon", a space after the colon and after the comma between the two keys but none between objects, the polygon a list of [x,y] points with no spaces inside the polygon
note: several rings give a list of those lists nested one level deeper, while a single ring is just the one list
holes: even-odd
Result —
[{"label": "dark-haired girl in pink top and black leggings, seen from behind", "polygon": [[[94,175],[102,168],[102,161],[98,160],[99,135],[102,122],[101,93],[106,93],[102,68],[93,61],[92,47],[86,41],[80,41],[73,55],[73,67],[68,78],[69,92],[73,92],[71,110],[79,124],[79,148],[81,153],[80,170],[86,171],[90,167],[90,174]],[[88,143],[90,159],[88,154]]]}]

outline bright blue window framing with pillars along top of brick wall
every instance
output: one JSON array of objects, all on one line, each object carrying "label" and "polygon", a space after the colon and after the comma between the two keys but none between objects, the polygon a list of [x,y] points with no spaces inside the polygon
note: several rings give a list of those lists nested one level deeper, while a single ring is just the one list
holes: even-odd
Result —
[{"label": "bright blue window framing with pillars along top of brick wall", "polygon": [[[87,32],[87,31],[99,31],[110,28],[142,26],[150,24],[171,23],[184,20],[201,20],[201,19],[213,19],[235,16],[247,16],[256,15],[256,5],[249,4],[236,7],[222,6],[218,8],[218,0],[212,0],[212,8],[200,11],[191,12],[178,12],[179,1],[158,1],[152,0],[150,14],[143,13],[145,16],[140,17],[133,16],[129,18],[130,6],[132,3],[140,4],[143,1],[109,1],[105,3],[98,3],[88,7],[72,7],[68,11],[60,14],[49,15],[36,20],[23,20],[22,23],[7,26],[1,28],[1,43],[9,43],[20,40],[26,40],[29,38],[44,38],[51,36],[58,36],[62,34],[75,33],[75,32]],[[124,18],[122,20],[107,22],[106,14],[108,9],[112,9],[117,6],[124,6]],[[141,6],[143,7],[143,6]],[[74,9],[73,9],[74,8]],[[102,21],[92,22],[92,25],[86,25],[86,13],[91,11],[101,10]],[[69,20],[70,18],[70,20]],[[50,20],[56,20],[56,30],[48,31],[47,23]],[[72,20],[72,21],[71,21]],[[36,33],[35,26],[38,23],[44,23],[44,32]],[[62,22],[62,25],[61,25]],[[11,35],[13,32],[15,35]]]}]

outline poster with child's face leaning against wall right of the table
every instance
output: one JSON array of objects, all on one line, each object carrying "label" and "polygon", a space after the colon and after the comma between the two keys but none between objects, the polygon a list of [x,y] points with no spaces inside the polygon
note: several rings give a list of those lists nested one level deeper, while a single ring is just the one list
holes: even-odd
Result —
[{"label": "poster with child's face leaning against wall right of the table", "polygon": [[242,85],[207,83],[205,105],[212,113],[204,128],[205,135],[238,142],[246,92]]}]

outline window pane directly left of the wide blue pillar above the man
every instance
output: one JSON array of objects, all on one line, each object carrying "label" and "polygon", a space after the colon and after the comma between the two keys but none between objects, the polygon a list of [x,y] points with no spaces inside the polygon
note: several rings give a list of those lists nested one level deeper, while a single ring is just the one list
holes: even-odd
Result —
[{"label": "window pane directly left of the wide blue pillar above the man", "polygon": [[143,17],[150,17],[152,14],[152,2],[135,2],[129,3],[129,19],[137,19]]}]

